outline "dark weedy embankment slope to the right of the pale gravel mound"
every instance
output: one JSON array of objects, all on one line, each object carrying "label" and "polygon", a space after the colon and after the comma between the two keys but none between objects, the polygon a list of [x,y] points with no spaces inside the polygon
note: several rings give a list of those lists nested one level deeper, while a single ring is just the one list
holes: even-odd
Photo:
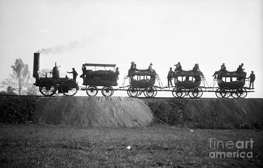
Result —
[{"label": "dark weedy embankment slope to the right of the pale gravel mound", "polygon": [[155,121],[198,128],[262,128],[263,99],[143,99]]}]

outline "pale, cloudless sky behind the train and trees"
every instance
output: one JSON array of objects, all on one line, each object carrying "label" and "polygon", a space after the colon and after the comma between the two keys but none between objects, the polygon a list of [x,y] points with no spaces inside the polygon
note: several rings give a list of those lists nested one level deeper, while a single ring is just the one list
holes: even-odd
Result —
[{"label": "pale, cloudless sky behind the train and trees", "polygon": [[256,76],[255,92],[247,97],[263,98],[263,1],[0,0],[0,81],[12,74],[17,58],[29,65],[32,76],[36,52],[40,69],[52,69],[56,62],[62,74],[74,67],[80,75],[85,63],[117,64],[114,88],[132,61],[146,69],[152,62],[164,86],[169,68],[178,62],[186,70],[198,63],[209,86],[222,63],[229,71],[243,63],[247,77],[251,71]]}]

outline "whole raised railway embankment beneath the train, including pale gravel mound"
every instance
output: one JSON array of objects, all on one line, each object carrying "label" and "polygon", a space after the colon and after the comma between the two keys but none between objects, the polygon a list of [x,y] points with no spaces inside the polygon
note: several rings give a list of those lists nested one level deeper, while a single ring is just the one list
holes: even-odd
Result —
[{"label": "whole raised railway embankment beneath the train, including pale gravel mound", "polygon": [[78,127],[161,123],[202,129],[262,129],[263,99],[0,96],[0,122],[30,121]]}]

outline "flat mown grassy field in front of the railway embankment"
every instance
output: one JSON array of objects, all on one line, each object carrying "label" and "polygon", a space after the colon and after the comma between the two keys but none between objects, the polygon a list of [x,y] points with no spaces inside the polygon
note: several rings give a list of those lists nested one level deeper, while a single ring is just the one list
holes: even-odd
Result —
[{"label": "flat mown grassy field in front of the railway embankment", "polygon": [[[257,129],[72,128],[0,125],[0,167],[263,167]],[[250,148],[214,149],[214,141],[250,141]],[[131,146],[131,149],[127,149]],[[239,144],[240,146],[240,144]],[[212,148],[210,148],[212,147]],[[211,158],[210,152],[252,153],[252,158]],[[223,155],[222,155],[223,156]],[[251,156],[251,155],[250,155]]]}]

